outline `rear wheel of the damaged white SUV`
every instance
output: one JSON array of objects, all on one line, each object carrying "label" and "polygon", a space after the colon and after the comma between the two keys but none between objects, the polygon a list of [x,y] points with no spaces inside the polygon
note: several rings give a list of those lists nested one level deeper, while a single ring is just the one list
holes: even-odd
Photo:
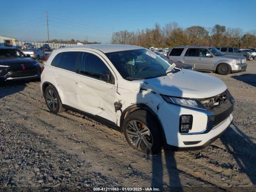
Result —
[{"label": "rear wheel of the damaged white SUV", "polygon": [[[50,96],[52,96],[52,105],[50,104],[51,102],[49,102]],[[56,113],[64,112],[66,110],[65,108],[62,107],[62,103],[60,101],[58,92],[55,90],[53,86],[49,85],[46,87],[44,91],[44,99],[50,112],[56,114]]]}]

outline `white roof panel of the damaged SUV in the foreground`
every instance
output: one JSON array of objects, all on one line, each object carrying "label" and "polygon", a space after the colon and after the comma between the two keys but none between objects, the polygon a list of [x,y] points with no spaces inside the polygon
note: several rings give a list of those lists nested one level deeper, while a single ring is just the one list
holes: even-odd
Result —
[{"label": "white roof panel of the damaged SUV in the foreground", "polygon": [[79,48],[92,48],[92,49],[100,50],[104,53],[143,49],[143,47],[140,47],[140,46],[123,45],[123,44],[87,44],[87,45],[77,45],[72,47],[64,47],[59,49],[66,50],[66,49],[79,49]]}]

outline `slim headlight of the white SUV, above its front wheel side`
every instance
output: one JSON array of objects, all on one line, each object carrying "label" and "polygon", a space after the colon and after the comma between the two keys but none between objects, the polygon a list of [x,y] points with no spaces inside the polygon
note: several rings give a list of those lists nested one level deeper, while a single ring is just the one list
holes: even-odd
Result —
[{"label": "slim headlight of the white SUV, above its front wheel side", "polygon": [[206,110],[205,106],[199,100],[196,100],[196,99],[178,98],[178,97],[171,97],[166,95],[162,95],[162,98],[166,102],[171,104]]}]

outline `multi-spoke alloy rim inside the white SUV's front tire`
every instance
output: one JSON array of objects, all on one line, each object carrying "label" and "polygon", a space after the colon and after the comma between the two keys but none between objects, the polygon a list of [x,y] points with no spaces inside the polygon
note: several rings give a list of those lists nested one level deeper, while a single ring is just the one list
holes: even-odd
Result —
[{"label": "multi-spoke alloy rim inside the white SUV's front tire", "polygon": [[130,143],[141,151],[148,151],[153,145],[153,138],[148,127],[140,121],[130,121],[126,127]]}]

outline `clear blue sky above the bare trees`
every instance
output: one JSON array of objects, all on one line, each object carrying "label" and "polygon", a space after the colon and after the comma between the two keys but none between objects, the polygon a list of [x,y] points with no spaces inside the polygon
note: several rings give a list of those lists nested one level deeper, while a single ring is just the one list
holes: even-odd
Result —
[{"label": "clear blue sky above the bare trees", "polygon": [[215,24],[256,30],[256,0],[8,0],[1,1],[0,34],[17,40],[110,42],[112,30],[153,28],[177,22],[182,28]]}]

